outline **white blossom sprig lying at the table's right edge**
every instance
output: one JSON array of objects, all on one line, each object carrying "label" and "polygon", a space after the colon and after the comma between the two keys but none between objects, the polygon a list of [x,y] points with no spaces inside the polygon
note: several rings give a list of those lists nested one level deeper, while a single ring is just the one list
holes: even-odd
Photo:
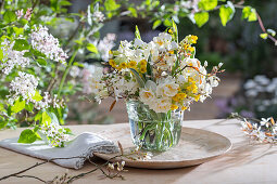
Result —
[{"label": "white blossom sprig lying at the table's right edge", "polygon": [[241,123],[241,130],[250,137],[261,143],[277,143],[277,124],[273,117],[262,118],[244,118],[238,114],[231,114],[232,118],[238,118]]}]

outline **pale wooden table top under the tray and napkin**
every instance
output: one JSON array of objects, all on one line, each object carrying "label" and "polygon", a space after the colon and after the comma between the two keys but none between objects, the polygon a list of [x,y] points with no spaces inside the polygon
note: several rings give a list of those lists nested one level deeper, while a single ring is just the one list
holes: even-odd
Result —
[{"label": "pale wooden table top under the tray and napkin", "polygon": [[[70,126],[75,134],[85,131],[100,132],[109,129],[121,129],[127,123],[109,126]],[[147,170],[126,168],[128,172],[121,179],[102,179],[100,171],[86,175],[74,183],[123,183],[123,184],[168,184],[168,183],[200,183],[200,184],[228,184],[228,183],[277,183],[277,146],[257,144],[250,141],[240,130],[238,120],[193,120],[184,121],[184,127],[199,128],[219,133],[232,143],[231,150],[212,161],[200,166],[172,169]],[[21,129],[0,131],[0,140],[18,136]],[[0,148],[0,178],[17,172],[41,160]],[[43,180],[52,180],[56,175],[68,172],[70,175],[89,171],[93,166],[86,163],[80,170],[68,170],[54,163],[46,163],[25,174],[37,175]],[[1,181],[0,181],[1,183]],[[2,183],[38,183],[34,179],[11,178]]]}]

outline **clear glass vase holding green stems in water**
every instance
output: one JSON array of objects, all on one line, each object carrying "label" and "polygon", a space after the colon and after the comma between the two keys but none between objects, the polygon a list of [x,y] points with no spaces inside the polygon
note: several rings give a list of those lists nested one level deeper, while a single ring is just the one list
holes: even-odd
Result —
[{"label": "clear glass vase holding green stems in water", "polygon": [[137,147],[165,152],[178,144],[182,110],[155,113],[140,101],[126,102],[133,142]]}]

